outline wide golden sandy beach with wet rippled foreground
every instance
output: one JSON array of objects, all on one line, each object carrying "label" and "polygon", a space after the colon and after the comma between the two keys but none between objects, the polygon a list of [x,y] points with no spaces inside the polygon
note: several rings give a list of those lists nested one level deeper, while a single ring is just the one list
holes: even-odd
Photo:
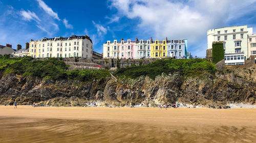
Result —
[{"label": "wide golden sandy beach with wet rippled foreground", "polygon": [[254,142],[256,109],[0,106],[0,142]]}]

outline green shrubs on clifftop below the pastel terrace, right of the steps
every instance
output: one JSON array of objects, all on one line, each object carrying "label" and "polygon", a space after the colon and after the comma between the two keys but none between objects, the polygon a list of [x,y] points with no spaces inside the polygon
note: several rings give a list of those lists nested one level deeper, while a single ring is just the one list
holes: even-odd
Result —
[{"label": "green shrubs on clifftop below the pastel terrace, right of the steps", "polygon": [[203,71],[213,74],[216,70],[214,64],[203,59],[163,59],[148,65],[120,68],[114,75],[131,78],[144,75],[155,79],[162,73],[180,72],[182,75],[200,75]]}]

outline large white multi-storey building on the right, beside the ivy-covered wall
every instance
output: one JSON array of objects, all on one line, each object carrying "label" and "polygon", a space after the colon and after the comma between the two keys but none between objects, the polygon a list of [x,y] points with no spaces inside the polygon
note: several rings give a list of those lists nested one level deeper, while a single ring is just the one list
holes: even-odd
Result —
[{"label": "large white multi-storey building on the right, beside the ivy-covered wall", "polygon": [[207,31],[207,48],[212,48],[212,42],[223,41],[225,64],[240,65],[248,58],[248,35],[252,34],[252,28],[247,25],[229,26]]}]

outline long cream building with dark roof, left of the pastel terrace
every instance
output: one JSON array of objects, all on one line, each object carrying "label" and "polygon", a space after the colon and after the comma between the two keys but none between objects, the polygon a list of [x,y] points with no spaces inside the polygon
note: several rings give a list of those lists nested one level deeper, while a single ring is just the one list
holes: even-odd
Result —
[{"label": "long cream building with dark roof, left of the pastel terrace", "polygon": [[89,36],[43,38],[31,40],[29,55],[34,59],[80,57],[92,59],[93,43]]}]

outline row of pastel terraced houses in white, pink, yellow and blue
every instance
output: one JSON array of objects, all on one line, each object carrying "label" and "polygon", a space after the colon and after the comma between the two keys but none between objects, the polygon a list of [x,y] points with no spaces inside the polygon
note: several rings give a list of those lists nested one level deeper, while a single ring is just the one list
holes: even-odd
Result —
[{"label": "row of pastel terraced houses in white, pink, yellow and blue", "polygon": [[177,58],[188,59],[187,39],[182,40],[138,40],[107,41],[103,44],[103,58],[142,59]]}]

